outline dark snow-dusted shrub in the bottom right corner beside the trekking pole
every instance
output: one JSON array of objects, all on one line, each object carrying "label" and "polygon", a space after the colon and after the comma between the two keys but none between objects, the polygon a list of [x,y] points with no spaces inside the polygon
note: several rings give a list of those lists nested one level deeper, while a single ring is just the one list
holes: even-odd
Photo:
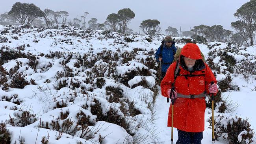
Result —
[{"label": "dark snow-dusted shrub in the bottom right corner beside the trekking pole", "polygon": [[[253,142],[254,132],[250,128],[251,125],[248,122],[248,118],[245,120],[237,116],[233,118],[217,115],[214,119],[216,140],[219,137],[223,137],[229,140],[229,144],[251,144]],[[212,128],[211,117],[208,122],[210,123],[209,128]]]}]

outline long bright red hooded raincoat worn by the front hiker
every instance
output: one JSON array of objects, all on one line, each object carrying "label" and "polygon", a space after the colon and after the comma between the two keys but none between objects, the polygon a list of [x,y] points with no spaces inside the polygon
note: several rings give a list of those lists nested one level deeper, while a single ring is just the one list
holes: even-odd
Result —
[{"label": "long bright red hooded raincoat worn by the front hiker", "polygon": [[[189,72],[183,57],[197,59],[193,71]],[[211,81],[217,83],[210,67],[202,61],[200,50],[196,44],[187,43],[180,53],[180,72],[174,83],[178,93],[184,95],[197,95],[208,91]],[[161,94],[168,97],[167,90],[171,89],[174,82],[176,62],[168,68],[161,81]],[[195,76],[200,75],[200,76]],[[204,131],[204,112],[206,109],[205,98],[177,98],[174,103],[173,126],[186,132]],[[172,107],[169,108],[168,126],[171,127]]]}]

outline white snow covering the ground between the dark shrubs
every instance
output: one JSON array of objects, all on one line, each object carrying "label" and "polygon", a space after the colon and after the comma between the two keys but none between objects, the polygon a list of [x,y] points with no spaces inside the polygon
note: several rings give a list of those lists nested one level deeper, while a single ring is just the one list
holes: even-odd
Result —
[{"label": "white snow covering the ground between the dark shrubs", "polygon": [[[0,31],[4,30],[4,26],[0,26]],[[10,30],[11,31],[11,30]],[[102,50],[112,50],[113,52],[121,51],[124,52],[126,50],[130,51],[133,48],[142,48],[145,51],[150,51],[151,49],[156,50],[160,44],[161,39],[164,36],[159,38],[154,38],[152,42],[148,42],[146,38],[148,36],[139,36],[136,37],[130,35],[131,39],[134,42],[125,42],[124,36],[120,36],[117,33],[110,33],[108,36],[103,35],[103,31],[91,31],[84,32],[79,30],[74,30],[72,28],[67,28],[66,30],[45,30],[37,32],[37,29],[22,29],[23,32],[18,33],[7,33],[0,35],[1,37],[7,37],[7,42],[1,42],[0,47],[9,46],[14,50],[17,50],[18,46],[25,45],[24,50],[22,52],[30,52],[35,55],[39,55],[41,53],[49,54],[50,51],[61,51],[61,52],[74,52],[77,54],[87,54],[89,50],[92,50],[93,54],[98,52],[102,52]],[[73,32],[81,32],[82,36],[74,37]],[[1,38],[0,37],[0,38]],[[18,37],[17,39],[13,39],[13,37]],[[110,37],[110,38],[108,38]],[[179,39],[179,38],[177,38]],[[27,45],[29,44],[29,46]],[[176,44],[177,47],[182,48],[184,43]],[[208,57],[209,49],[205,44],[198,44],[200,50]],[[242,51],[241,51],[242,52]],[[255,46],[251,46],[247,48],[247,50],[243,52],[249,52],[252,55],[256,55]],[[22,62],[20,65],[18,72],[26,75],[26,79],[35,79],[37,85],[27,85],[24,89],[9,89],[4,91],[0,89],[0,98],[3,96],[11,97],[18,95],[18,100],[22,100],[20,105],[16,105],[15,98],[11,100],[11,102],[6,102],[4,100],[0,101],[0,121],[9,120],[9,114],[11,118],[14,118],[14,115],[19,114],[19,110],[15,109],[17,106],[18,109],[30,111],[36,114],[37,120],[28,126],[25,127],[13,127],[11,125],[7,125],[7,128],[11,132],[11,142],[15,143],[15,140],[22,139],[25,140],[25,144],[34,144],[37,141],[37,144],[40,143],[41,138],[43,136],[50,135],[50,143],[49,144],[74,144],[81,141],[83,144],[96,144],[99,142],[100,137],[105,137],[103,139],[102,144],[122,144],[131,143],[132,139],[135,138],[136,135],[149,134],[150,129],[154,132],[154,135],[157,136],[158,141],[162,144],[169,144],[171,141],[171,127],[167,127],[167,116],[169,111],[170,103],[167,103],[166,98],[158,95],[156,99],[156,115],[154,116],[154,121],[151,121],[152,113],[148,109],[147,103],[152,101],[152,98],[149,97],[145,99],[145,96],[152,95],[152,91],[149,89],[145,89],[142,86],[138,86],[132,88],[132,85],[141,81],[141,79],[145,78],[150,87],[155,85],[154,79],[154,70],[151,70],[151,76],[135,76],[128,82],[130,87],[127,87],[123,84],[118,83],[110,76],[105,76],[106,84],[102,86],[102,88],[98,88],[95,86],[95,79],[91,79],[94,85],[89,85],[85,83],[87,77],[87,71],[91,71],[92,68],[76,68],[74,63],[76,63],[76,59],[71,59],[67,66],[72,68],[72,72],[76,74],[76,76],[72,77],[72,80],[75,80],[77,83],[82,83],[84,87],[94,87],[93,91],[87,91],[87,97],[84,94],[80,93],[81,88],[72,89],[70,88],[61,88],[60,90],[56,90],[54,85],[58,82],[56,79],[56,72],[63,71],[63,65],[60,64],[61,61],[65,61],[65,56],[61,58],[46,58],[45,56],[40,57],[39,64],[37,65],[37,70],[33,70],[28,66],[29,60],[27,58],[18,58],[8,61],[2,65],[9,71],[16,65],[16,60]],[[116,72],[118,74],[124,74],[132,70],[136,66],[139,68],[145,68],[146,66],[138,61],[145,60],[147,57],[152,55],[143,55],[143,52],[139,52],[139,54],[135,57],[136,60],[129,61],[128,64],[122,64],[121,60],[118,60],[118,66]],[[240,59],[243,57],[241,55],[237,55],[236,59]],[[103,61],[97,61],[95,65],[103,65],[106,66],[109,63]],[[47,67],[46,70],[43,67]],[[43,69],[43,70],[42,70]],[[108,72],[108,70],[106,70]],[[106,73],[104,73],[106,74]],[[71,77],[68,77],[71,78]],[[235,83],[239,86],[240,90],[231,90],[229,92],[223,92],[223,98],[229,98],[233,103],[238,103],[239,107],[234,113],[224,113],[228,116],[241,116],[242,118],[249,118],[249,122],[251,124],[251,128],[256,129],[256,115],[254,110],[256,109],[256,80],[255,78],[250,78],[249,82],[246,82],[241,76],[232,76],[232,83]],[[50,79],[49,83],[46,83],[47,79]],[[70,82],[70,79],[68,80]],[[70,83],[69,83],[70,84]],[[91,114],[90,105],[88,109],[82,109],[82,105],[87,103],[95,103],[93,101],[94,98],[97,98],[100,103],[102,103],[102,107],[104,110],[109,111],[110,105],[113,107],[119,107],[118,104],[109,104],[106,100],[106,87],[114,86],[122,89],[126,97],[130,100],[136,100],[135,108],[141,111],[141,114],[136,116],[126,116],[127,120],[130,120],[130,130],[133,132],[134,136],[128,135],[128,133],[122,127],[111,124],[107,122],[98,121],[95,123],[95,115]],[[96,88],[95,88],[96,87]],[[75,94],[77,92],[77,95]],[[67,101],[67,107],[62,107],[59,109],[54,109],[53,107],[57,102],[61,102],[62,100]],[[41,125],[39,119],[50,122],[54,118],[59,117],[60,112],[69,111],[69,116],[67,118],[72,118],[75,122],[78,121],[76,118],[76,114],[83,111],[86,115],[91,116],[90,120],[94,122],[95,126],[89,126],[89,128],[95,132],[94,138],[91,138],[90,141],[85,141],[78,136],[81,135],[81,131],[77,131],[75,137],[72,135],[68,135],[63,133],[62,137],[59,140],[56,140],[56,137],[59,137],[59,132],[55,130],[38,128]],[[123,114],[118,110],[118,113],[123,116]],[[215,114],[218,114],[217,112]],[[220,113],[219,113],[220,114]],[[55,116],[55,117],[54,117]],[[211,129],[208,128],[209,123],[207,122],[208,118],[211,116],[211,110],[206,109],[205,112],[205,131],[203,132],[203,140],[202,144],[210,144],[211,143]],[[59,120],[59,122],[63,122],[63,120]],[[143,127],[139,127],[139,123],[143,125]],[[101,127],[101,129],[97,129],[96,127]],[[152,134],[152,133],[151,133]],[[38,136],[37,136],[38,135]],[[117,139],[117,137],[119,139]],[[146,144],[154,141],[154,138],[147,138]],[[174,129],[174,142],[178,139],[177,131]],[[254,137],[254,141],[256,141],[256,137]],[[18,141],[16,144],[19,143]],[[220,139],[216,141],[215,144],[227,144],[228,140]],[[254,142],[256,144],[256,142]]]}]

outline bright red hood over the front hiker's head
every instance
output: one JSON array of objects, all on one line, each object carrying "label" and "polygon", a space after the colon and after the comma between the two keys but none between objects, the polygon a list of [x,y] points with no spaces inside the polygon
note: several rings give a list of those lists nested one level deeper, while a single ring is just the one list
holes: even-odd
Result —
[{"label": "bright red hood over the front hiker's head", "polygon": [[183,46],[180,55],[190,59],[202,59],[199,47],[197,44],[193,43],[187,43],[185,46]]}]

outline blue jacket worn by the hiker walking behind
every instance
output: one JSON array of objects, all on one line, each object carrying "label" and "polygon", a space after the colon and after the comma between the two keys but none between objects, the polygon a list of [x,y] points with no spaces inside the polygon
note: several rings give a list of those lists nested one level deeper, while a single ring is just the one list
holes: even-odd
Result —
[{"label": "blue jacket worn by the hiker walking behind", "polygon": [[167,48],[167,46],[164,44],[163,50],[162,50],[162,56],[161,56],[160,55],[161,46],[158,48],[158,50],[156,51],[155,57],[157,62],[160,62],[158,58],[162,57],[161,72],[166,72],[169,66],[173,63],[174,54],[176,54],[176,50],[177,48],[175,47],[175,43],[173,43],[170,48]]}]

